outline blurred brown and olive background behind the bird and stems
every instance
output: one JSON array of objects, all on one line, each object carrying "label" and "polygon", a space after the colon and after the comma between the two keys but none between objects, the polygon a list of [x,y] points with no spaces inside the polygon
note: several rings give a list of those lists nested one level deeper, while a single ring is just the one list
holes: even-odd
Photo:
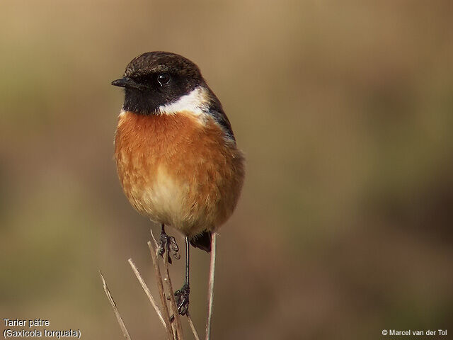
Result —
[{"label": "blurred brown and olive background behind the bird and stems", "polygon": [[[448,329],[452,1],[340,2],[1,1],[0,317],[122,339],[101,270],[132,339],[165,339],[127,263],[157,296],[110,81],[166,50],[200,66],[247,158],[213,339]],[[192,254],[202,332],[209,256]],[[178,288],[183,261],[171,270]]]}]

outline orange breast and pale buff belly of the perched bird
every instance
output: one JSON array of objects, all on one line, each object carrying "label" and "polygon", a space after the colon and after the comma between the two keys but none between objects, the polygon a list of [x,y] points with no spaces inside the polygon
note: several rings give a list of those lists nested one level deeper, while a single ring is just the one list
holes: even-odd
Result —
[{"label": "orange breast and pale buff belly of the perched bird", "polygon": [[241,152],[214,120],[200,123],[190,113],[122,113],[115,158],[134,208],[187,236],[222,225],[243,184]]}]

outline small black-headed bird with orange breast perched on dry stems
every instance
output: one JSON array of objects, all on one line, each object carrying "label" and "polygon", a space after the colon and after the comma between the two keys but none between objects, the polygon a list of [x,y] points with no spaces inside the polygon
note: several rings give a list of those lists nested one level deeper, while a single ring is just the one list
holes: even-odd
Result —
[{"label": "small black-headed bird with orange breast perched on dry stems", "polygon": [[[189,306],[190,244],[208,253],[212,234],[234,212],[245,177],[222,103],[199,67],[172,52],[135,57],[122,78],[125,99],[115,132],[117,174],[132,207],[161,225],[159,254],[178,258],[171,226],[185,237],[185,281],[178,313]],[[171,259],[168,255],[168,260]]]}]

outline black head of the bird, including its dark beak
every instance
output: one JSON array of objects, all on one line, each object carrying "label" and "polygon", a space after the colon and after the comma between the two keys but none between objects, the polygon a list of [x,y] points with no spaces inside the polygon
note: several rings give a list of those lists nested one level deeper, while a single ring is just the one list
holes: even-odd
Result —
[{"label": "black head of the bird, including its dark beak", "polygon": [[112,85],[125,88],[125,111],[149,115],[206,83],[197,65],[185,57],[147,52],[134,58],[124,77]]}]

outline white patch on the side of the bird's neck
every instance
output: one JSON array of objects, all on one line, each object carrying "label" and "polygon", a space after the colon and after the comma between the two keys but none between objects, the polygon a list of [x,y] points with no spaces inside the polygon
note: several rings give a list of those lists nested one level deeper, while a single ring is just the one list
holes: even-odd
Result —
[{"label": "white patch on the side of the bird's neck", "polygon": [[189,94],[182,96],[173,103],[161,105],[157,109],[162,115],[176,115],[181,111],[188,111],[197,118],[204,118],[207,115],[209,108],[209,98],[207,96],[207,89],[198,86],[196,89],[190,91]]}]

